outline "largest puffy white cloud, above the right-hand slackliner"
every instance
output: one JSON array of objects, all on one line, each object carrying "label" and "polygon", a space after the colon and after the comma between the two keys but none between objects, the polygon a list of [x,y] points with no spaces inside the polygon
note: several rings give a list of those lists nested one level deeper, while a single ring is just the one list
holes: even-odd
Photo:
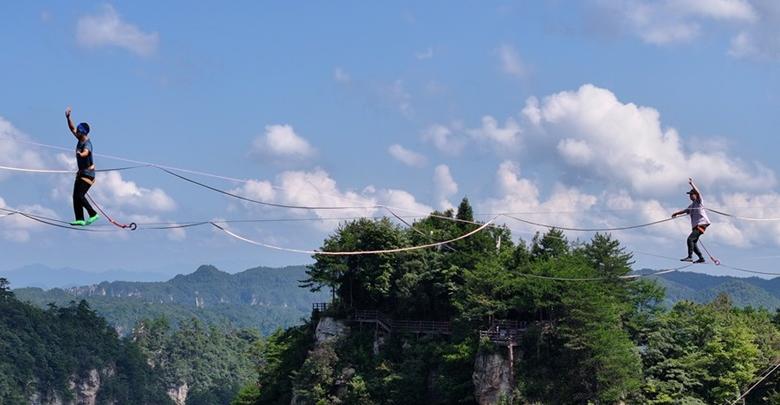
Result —
[{"label": "largest puffy white cloud, above the right-hand slackliner", "polygon": [[686,151],[674,128],[663,128],[651,107],[623,103],[607,89],[584,85],[530,99],[523,110],[542,137],[554,142],[562,162],[644,194],[670,193],[688,177],[742,189],[774,186],[775,175],[724,151]]}]

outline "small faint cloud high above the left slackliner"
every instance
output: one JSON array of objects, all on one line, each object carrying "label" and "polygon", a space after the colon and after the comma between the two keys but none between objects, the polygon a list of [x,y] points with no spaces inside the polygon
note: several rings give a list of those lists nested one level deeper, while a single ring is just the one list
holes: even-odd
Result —
[{"label": "small faint cloud high above the left slackliner", "polygon": [[86,48],[116,46],[141,56],[153,54],[159,43],[156,32],[145,33],[120,18],[114,7],[105,5],[97,15],[79,18],[76,39]]}]

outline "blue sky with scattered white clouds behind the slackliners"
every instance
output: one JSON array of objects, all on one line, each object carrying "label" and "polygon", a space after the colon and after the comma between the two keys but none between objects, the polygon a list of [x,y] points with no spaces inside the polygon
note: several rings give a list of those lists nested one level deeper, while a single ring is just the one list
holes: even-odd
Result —
[{"label": "blue sky with scattered white clouds behind the slackliners", "polygon": [[[251,180],[198,178],[282,204],[413,215],[465,195],[478,213],[620,226],[684,207],[693,177],[709,206],[780,217],[780,6],[770,0],[57,1],[0,13],[13,16],[0,26],[0,165],[69,168],[71,153],[18,140],[72,148],[71,105],[98,154]],[[3,172],[0,206],[70,220],[71,187],[67,175]],[[104,174],[92,194],[136,222],[382,214],[250,206],[153,169]],[[703,241],[724,263],[780,272],[770,257],[780,222],[711,219]],[[516,237],[537,230],[502,221]],[[336,224],[231,229],[315,249]],[[616,236],[682,257],[687,228]],[[6,269],[310,261],[208,228],[86,235],[18,216],[0,219],[0,247]]]}]

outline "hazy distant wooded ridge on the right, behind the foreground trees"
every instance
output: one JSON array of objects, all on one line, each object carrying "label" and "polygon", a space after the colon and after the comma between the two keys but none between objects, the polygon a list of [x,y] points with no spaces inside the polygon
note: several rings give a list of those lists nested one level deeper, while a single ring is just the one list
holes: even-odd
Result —
[{"label": "hazy distant wooded ridge on the right, behind the foreground trees", "polygon": [[710,302],[718,294],[726,293],[736,306],[763,307],[770,311],[780,308],[780,277],[767,280],[677,271],[650,279],[658,280],[666,288],[667,305],[682,300]]}]

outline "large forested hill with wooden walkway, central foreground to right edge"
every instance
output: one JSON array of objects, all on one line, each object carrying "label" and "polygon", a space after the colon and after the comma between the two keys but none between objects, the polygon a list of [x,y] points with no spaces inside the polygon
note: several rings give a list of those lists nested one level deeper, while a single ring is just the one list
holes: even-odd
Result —
[{"label": "large forested hill with wooden walkway, central foreground to right edge", "polygon": [[[322,250],[393,249],[475,229],[467,200],[436,214],[415,230],[346,223]],[[737,308],[726,294],[668,308],[661,285],[623,277],[632,257],[609,235],[511,240],[490,227],[448,248],[316,256],[306,284],[334,289],[336,301],[269,337],[258,380],[235,403],[720,404],[780,358],[772,312]],[[745,399],[780,403],[779,387],[776,374]]]}]

